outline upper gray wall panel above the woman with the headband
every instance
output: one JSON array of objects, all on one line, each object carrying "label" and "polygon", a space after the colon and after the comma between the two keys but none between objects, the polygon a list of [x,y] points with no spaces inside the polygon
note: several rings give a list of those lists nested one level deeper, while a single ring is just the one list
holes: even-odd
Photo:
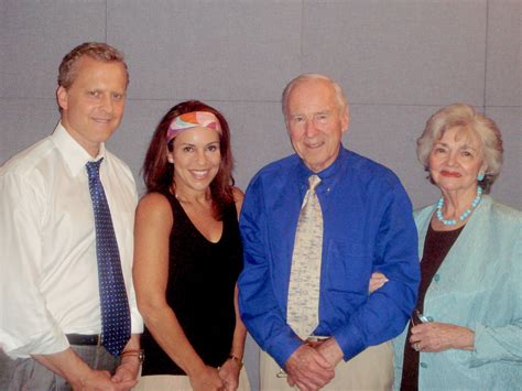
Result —
[{"label": "upper gray wall panel above the woman with the headband", "polygon": [[300,14],[292,1],[111,0],[108,34],[139,75],[133,97],[274,100],[300,70]]}]

